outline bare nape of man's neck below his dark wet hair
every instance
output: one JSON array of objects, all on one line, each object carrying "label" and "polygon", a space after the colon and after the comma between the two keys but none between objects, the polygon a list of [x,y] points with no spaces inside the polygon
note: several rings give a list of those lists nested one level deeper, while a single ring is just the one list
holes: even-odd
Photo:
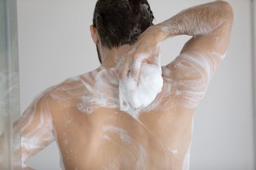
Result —
[{"label": "bare nape of man's neck below his dark wet hair", "polygon": [[119,60],[124,57],[124,54],[131,50],[131,46],[124,45],[119,48],[100,48],[100,56],[102,59],[102,66],[106,68],[115,67]]}]

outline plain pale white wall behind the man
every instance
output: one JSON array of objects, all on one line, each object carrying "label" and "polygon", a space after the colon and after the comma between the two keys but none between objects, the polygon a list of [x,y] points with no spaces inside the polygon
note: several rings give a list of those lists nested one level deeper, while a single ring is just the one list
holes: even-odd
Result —
[{"label": "plain pale white wall behind the man", "polygon": [[[155,23],[203,2],[207,1],[150,0]],[[197,109],[191,169],[254,169],[250,0],[229,2],[235,12],[231,44]],[[22,111],[48,86],[98,67],[89,34],[95,3],[18,1]],[[187,39],[175,37],[162,44],[163,65],[177,56]],[[28,163],[35,169],[59,169],[55,143]]]}]

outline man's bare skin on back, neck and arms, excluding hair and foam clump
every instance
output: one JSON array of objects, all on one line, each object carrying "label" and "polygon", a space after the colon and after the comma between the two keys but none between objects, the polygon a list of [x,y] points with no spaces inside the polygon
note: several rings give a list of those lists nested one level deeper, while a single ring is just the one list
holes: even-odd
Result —
[{"label": "man's bare skin on back, neck and arms, excluding hair and foam clump", "polygon": [[[112,50],[101,46],[91,27],[102,66],[49,88],[28,107],[21,118],[23,163],[56,140],[66,169],[188,169],[194,112],[227,51],[232,22],[231,6],[215,1],[150,27],[134,46]],[[146,53],[139,62],[156,65],[160,42],[176,35],[193,37],[175,61],[162,67],[164,86],[154,109],[141,112],[138,119],[98,103],[87,103],[87,108],[96,108],[92,111],[78,109],[83,97],[93,95],[89,88],[99,88],[96,75],[103,72],[100,78],[110,84],[107,95],[117,98],[118,80],[131,73],[139,82],[139,71],[132,67],[137,56]],[[99,91],[104,95],[104,88]]]}]

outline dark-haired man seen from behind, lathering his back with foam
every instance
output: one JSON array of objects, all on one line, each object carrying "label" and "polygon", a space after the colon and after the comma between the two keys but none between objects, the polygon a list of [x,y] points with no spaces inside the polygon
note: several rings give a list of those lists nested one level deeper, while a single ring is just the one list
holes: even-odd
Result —
[{"label": "dark-haired man seen from behind, lathering his back with foam", "polygon": [[[189,168],[194,112],[227,50],[233,12],[214,1],[153,18],[145,0],[97,2],[90,29],[102,65],[35,98],[21,119],[23,163],[56,140],[63,169]],[[177,35],[192,38],[160,67],[160,42]]]}]

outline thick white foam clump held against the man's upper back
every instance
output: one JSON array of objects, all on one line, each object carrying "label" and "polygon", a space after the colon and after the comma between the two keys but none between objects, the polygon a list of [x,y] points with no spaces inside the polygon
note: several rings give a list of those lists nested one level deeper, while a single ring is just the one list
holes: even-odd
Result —
[{"label": "thick white foam clump held against the man's upper back", "polygon": [[[162,70],[160,67],[142,63],[139,83],[131,75],[119,82],[120,109],[143,109],[150,105],[162,90]],[[132,108],[131,108],[132,107]]]}]

